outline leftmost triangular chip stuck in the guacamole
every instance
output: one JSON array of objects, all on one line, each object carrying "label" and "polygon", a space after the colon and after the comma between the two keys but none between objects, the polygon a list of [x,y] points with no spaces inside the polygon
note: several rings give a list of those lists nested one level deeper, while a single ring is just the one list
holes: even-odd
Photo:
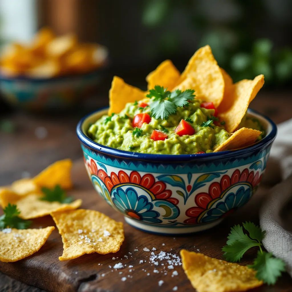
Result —
[{"label": "leftmost triangular chip stuck in the guacamole", "polygon": [[119,113],[124,109],[126,103],[134,102],[145,98],[145,92],[141,89],[126,84],[120,77],[114,76],[112,79],[112,87],[109,90],[109,112]]}]

